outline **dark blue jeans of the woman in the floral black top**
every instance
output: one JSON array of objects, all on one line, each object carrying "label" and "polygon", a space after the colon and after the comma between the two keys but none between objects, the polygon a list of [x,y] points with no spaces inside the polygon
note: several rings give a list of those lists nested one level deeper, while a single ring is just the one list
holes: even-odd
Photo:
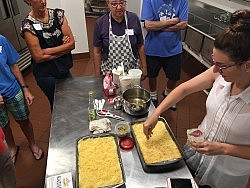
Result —
[{"label": "dark blue jeans of the woman in the floral black top", "polygon": [[[55,94],[55,86],[56,86],[56,80],[59,80],[53,76],[47,76],[47,77],[39,77],[36,76],[36,82],[37,85],[41,88],[41,90],[44,92],[44,94],[47,96],[49,103],[50,103],[50,110],[52,112],[53,110],[53,103],[54,103],[54,94]],[[71,73],[65,75],[64,78],[72,78]]]}]

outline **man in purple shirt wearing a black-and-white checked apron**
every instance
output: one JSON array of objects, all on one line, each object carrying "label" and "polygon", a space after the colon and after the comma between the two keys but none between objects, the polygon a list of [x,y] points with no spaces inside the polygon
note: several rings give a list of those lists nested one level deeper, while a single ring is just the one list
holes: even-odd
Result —
[{"label": "man in purple shirt wearing a black-and-white checked apron", "polygon": [[124,71],[140,68],[147,76],[141,24],[135,13],[126,11],[127,1],[107,0],[109,12],[96,20],[94,28],[94,65],[96,75],[105,75],[124,65]]}]

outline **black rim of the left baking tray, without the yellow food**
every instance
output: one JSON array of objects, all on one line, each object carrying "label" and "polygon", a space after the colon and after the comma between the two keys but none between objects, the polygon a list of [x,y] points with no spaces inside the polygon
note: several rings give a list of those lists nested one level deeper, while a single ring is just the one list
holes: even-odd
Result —
[{"label": "black rim of the left baking tray, without the yellow food", "polygon": [[119,163],[120,163],[120,167],[121,167],[121,171],[122,171],[122,182],[120,184],[115,184],[115,185],[111,185],[111,186],[104,186],[102,188],[125,188],[125,173],[124,173],[124,167],[122,165],[122,158],[121,158],[121,154],[119,151],[119,145],[118,145],[118,137],[113,134],[113,133],[102,133],[102,134],[94,134],[94,135],[87,135],[87,136],[83,136],[80,137],[76,140],[76,184],[77,187],[79,187],[79,172],[78,172],[78,142],[80,140],[85,140],[85,139],[89,139],[89,138],[99,138],[99,137],[113,137],[116,143],[116,148],[117,148],[117,154],[118,154],[118,158],[119,158]]}]

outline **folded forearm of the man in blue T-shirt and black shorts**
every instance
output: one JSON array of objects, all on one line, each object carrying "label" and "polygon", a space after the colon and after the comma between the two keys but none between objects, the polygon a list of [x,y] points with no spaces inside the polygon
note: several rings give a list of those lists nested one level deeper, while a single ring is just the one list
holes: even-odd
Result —
[{"label": "folded forearm of the man in blue T-shirt and black shorts", "polygon": [[179,22],[180,22],[179,18],[172,18],[164,21],[145,20],[144,23],[147,31],[158,31],[174,26]]}]

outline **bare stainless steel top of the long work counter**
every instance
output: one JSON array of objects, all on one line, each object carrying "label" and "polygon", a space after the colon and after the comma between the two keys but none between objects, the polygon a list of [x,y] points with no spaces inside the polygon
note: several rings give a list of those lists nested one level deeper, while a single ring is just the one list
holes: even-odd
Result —
[{"label": "bare stainless steel top of the long work counter", "polygon": [[[88,91],[95,92],[95,98],[105,98],[102,90],[102,78],[78,77],[59,81],[56,84],[54,110],[50,130],[46,177],[71,172],[73,182],[76,173],[76,139],[92,134],[88,129]],[[134,121],[134,118],[123,111],[115,110],[106,101],[104,108]],[[149,113],[154,109],[150,106]],[[146,115],[147,116],[147,115]],[[141,118],[141,117],[140,117]],[[111,119],[112,125],[118,120]],[[114,127],[114,126],[113,126]],[[112,132],[114,131],[112,127]],[[126,176],[126,187],[150,188],[166,187],[167,177],[192,178],[184,161],[179,168],[167,173],[145,173],[142,169],[135,147],[130,152],[120,150]],[[74,185],[75,186],[75,185]]]}]

